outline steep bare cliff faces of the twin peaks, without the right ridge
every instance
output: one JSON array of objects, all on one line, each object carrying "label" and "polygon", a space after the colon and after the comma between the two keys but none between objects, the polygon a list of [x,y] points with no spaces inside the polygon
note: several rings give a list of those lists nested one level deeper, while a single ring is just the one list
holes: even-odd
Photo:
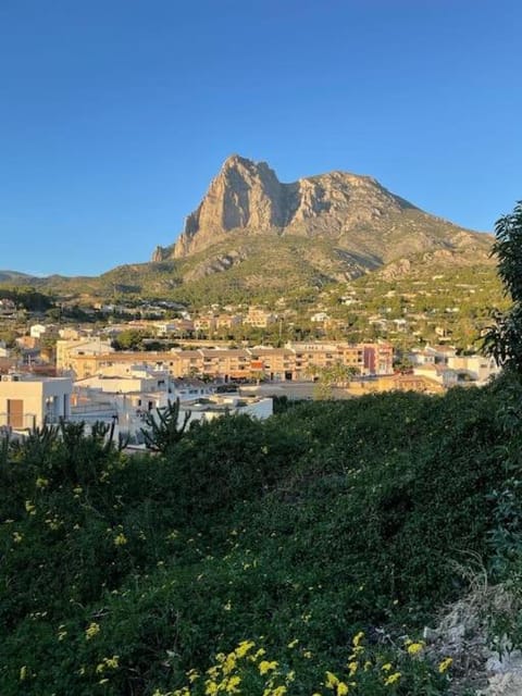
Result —
[{"label": "steep bare cliff faces of the twin peaks, without the right ridge", "polygon": [[173,256],[200,251],[233,229],[339,237],[407,209],[414,207],[370,176],[332,172],[282,184],[265,162],[235,154],[188,215]]}]

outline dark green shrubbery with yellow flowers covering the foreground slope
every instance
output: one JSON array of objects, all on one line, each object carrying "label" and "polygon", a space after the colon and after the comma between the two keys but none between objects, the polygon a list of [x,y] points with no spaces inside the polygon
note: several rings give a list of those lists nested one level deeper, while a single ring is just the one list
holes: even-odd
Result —
[{"label": "dark green shrubbery with yellow flowers covering the foreground slope", "polygon": [[443,694],[418,636],[456,566],[522,570],[520,403],[504,380],[225,418],[165,455],[5,446],[0,693]]}]

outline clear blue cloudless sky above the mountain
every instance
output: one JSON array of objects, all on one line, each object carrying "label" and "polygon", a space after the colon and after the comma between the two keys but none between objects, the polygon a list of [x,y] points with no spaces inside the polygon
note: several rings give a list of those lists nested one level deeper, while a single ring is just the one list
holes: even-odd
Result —
[{"label": "clear blue cloudless sky above the mountain", "polygon": [[0,269],[147,261],[233,152],[490,231],[522,198],[521,36],[520,0],[1,0]]}]

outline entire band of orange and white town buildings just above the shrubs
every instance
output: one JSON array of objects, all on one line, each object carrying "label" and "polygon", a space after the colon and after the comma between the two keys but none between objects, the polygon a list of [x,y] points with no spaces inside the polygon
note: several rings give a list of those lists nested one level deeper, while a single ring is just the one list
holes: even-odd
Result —
[{"label": "entire band of orange and white town buildings just above the shrubs", "polygon": [[[44,333],[35,326],[23,337],[27,350]],[[411,351],[411,368],[399,374],[394,373],[394,350],[386,343],[289,341],[283,348],[136,352],[116,351],[105,338],[82,336],[73,330],[64,330],[61,336],[55,363],[47,375],[38,375],[36,364],[25,372],[3,370],[0,432],[28,431],[61,419],[87,424],[102,420],[139,442],[147,413],[176,399],[181,417],[189,412],[191,421],[209,421],[224,413],[257,418],[272,413],[270,391],[228,394],[224,387],[229,383],[302,385],[343,365],[349,369],[349,385],[345,385],[349,396],[388,389],[436,394],[457,384],[485,384],[498,372],[492,359],[459,356],[446,345]]]}]

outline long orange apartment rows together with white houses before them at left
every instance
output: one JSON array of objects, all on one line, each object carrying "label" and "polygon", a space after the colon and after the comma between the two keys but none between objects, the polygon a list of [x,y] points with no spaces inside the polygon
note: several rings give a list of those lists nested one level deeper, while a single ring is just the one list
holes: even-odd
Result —
[{"label": "long orange apartment rows together with white houses before them at left", "polygon": [[146,414],[179,399],[181,417],[209,421],[224,413],[272,414],[270,396],[220,393],[227,383],[310,381],[312,368],[343,364],[371,376],[393,370],[386,344],[294,343],[285,348],[115,351],[102,338],[60,339],[55,373],[11,371],[0,381],[0,428],[27,431],[60,419],[113,421],[139,440]]}]

